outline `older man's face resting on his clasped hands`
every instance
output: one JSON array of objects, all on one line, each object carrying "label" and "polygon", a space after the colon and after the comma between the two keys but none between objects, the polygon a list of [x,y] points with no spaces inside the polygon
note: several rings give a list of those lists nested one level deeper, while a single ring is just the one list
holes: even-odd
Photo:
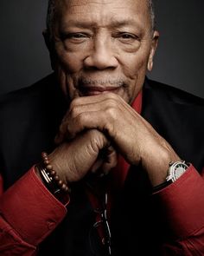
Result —
[{"label": "older man's face resting on his clasped hands", "polygon": [[112,92],[133,102],[152,67],[158,36],[150,30],[146,1],[59,2],[54,70],[68,100]]}]

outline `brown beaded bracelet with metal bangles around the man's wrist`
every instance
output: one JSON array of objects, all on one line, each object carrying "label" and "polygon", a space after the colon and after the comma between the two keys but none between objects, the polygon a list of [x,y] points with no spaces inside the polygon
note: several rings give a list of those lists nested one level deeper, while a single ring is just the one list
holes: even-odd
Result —
[{"label": "brown beaded bracelet with metal bangles around the man's wrist", "polygon": [[59,175],[54,171],[46,152],[41,153],[41,159],[42,162],[37,165],[37,168],[41,174],[41,179],[44,181],[48,190],[54,195],[70,193],[70,189],[67,187],[67,184],[61,181]]}]

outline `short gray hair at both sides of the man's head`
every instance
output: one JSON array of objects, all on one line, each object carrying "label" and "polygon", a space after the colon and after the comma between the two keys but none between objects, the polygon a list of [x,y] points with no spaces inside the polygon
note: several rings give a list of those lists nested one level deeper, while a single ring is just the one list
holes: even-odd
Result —
[{"label": "short gray hair at both sides of the man's head", "polygon": [[[150,22],[151,30],[156,29],[156,18],[153,0],[148,0],[150,10]],[[48,13],[47,13],[47,30],[48,34],[52,37],[53,25],[54,25],[54,14],[56,9],[56,0],[48,0]]]}]

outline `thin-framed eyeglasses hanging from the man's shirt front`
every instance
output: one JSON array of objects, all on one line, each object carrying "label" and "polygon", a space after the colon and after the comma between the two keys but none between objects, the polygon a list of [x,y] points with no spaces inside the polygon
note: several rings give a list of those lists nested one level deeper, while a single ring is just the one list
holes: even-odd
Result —
[{"label": "thin-framed eyeglasses hanging from the man's shirt front", "polygon": [[[112,240],[112,235],[111,235],[111,230],[110,226],[107,220],[107,202],[108,202],[108,194],[105,193],[105,200],[102,204],[102,208],[95,209],[94,212],[99,214],[100,220],[96,221],[90,230],[89,233],[89,243],[92,249],[93,255],[96,256],[110,256],[112,255],[112,248],[111,248],[111,240]],[[98,228],[102,226],[103,232],[105,237],[102,240],[102,245],[101,242],[99,241],[99,233],[98,233]]]}]

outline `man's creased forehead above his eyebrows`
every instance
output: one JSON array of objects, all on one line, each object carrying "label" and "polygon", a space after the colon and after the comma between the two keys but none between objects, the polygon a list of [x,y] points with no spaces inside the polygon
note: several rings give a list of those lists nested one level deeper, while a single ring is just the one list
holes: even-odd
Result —
[{"label": "man's creased forehead above his eyebrows", "polygon": [[58,0],[58,21],[67,25],[72,21],[107,23],[129,20],[141,26],[150,24],[148,0]]}]

